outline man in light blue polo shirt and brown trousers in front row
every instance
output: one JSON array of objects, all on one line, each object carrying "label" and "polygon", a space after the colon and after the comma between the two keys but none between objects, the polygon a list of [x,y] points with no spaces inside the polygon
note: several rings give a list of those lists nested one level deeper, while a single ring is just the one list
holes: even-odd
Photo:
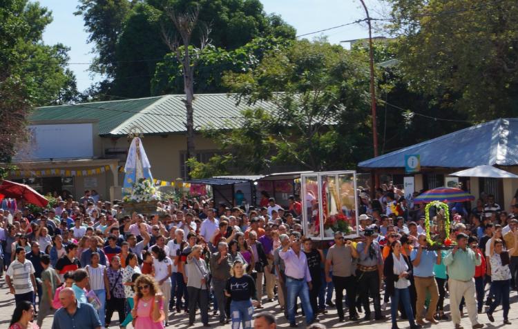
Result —
[{"label": "man in light blue polo shirt and brown trousers in front row", "polygon": [[419,247],[412,250],[410,260],[414,266],[414,282],[416,285],[417,301],[416,301],[416,323],[423,326],[423,308],[425,305],[426,292],[430,292],[432,299],[430,306],[426,312],[425,319],[430,323],[437,324],[439,321],[434,319],[435,308],[439,301],[439,289],[435,281],[434,264],[441,264],[441,252],[434,250],[426,250],[426,235],[419,235],[417,238]]}]

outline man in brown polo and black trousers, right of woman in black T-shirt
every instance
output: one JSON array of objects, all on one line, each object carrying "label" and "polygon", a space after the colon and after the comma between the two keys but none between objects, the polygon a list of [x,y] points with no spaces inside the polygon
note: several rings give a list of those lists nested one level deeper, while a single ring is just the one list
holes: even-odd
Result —
[{"label": "man in brown polo and black trousers, right of woman in black T-shirt", "polygon": [[[344,321],[343,315],[343,290],[347,294],[349,306],[349,320],[358,321],[356,313],[356,289],[354,279],[353,258],[358,258],[358,252],[350,240],[344,242],[342,232],[334,233],[334,246],[327,251],[325,260],[325,281],[333,282],[336,293],[336,311],[338,321]],[[329,270],[333,267],[333,275],[329,275]]]}]

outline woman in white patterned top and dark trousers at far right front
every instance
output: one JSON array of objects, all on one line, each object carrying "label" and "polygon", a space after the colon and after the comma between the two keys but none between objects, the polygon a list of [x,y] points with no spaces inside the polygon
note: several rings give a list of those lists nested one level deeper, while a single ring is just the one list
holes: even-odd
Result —
[{"label": "woman in white patterned top and dark trousers at far right front", "polygon": [[489,321],[494,322],[493,312],[502,302],[503,308],[503,324],[511,324],[509,315],[509,290],[511,271],[509,269],[509,254],[515,248],[518,248],[518,230],[513,232],[515,236],[515,246],[508,251],[503,250],[503,241],[501,239],[492,239],[489,261],[491,263],[491,290],[495,293],[495,300],[491,303],[486,314]]}]

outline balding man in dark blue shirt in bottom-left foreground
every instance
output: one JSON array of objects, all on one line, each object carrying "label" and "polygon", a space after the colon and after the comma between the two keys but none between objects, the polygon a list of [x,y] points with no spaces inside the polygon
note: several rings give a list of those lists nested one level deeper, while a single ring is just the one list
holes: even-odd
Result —
[{"label": "balding man in dark blue shirt in bottom-left foreground", "polygon": [[100,329],[101,321],[97,312],[88,303],[75,299],[72,288],[59,292],[62,308],[56,311],[52,329]]}]

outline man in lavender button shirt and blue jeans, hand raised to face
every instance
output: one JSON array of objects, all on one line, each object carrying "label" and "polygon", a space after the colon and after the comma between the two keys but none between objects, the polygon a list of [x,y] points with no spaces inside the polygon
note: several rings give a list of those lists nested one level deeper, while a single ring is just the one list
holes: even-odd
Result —
[{"label": "man in lavender button shirt and blue jeans, hand raised to face", "polygon": [[297,297],[302,302],[306,323],[309,326],[316,321],[311,303],[309,302],[309,290],[311,285],[311,275],[307,266],[307,259],[304,252],[300,251],[300,240],[292,235],[291,243],[282,247],[279,257],[285,262],[285,277],[287,288],[287,308],[288,320],[291,328],[297,328],[295,322],[295,303]]}]

